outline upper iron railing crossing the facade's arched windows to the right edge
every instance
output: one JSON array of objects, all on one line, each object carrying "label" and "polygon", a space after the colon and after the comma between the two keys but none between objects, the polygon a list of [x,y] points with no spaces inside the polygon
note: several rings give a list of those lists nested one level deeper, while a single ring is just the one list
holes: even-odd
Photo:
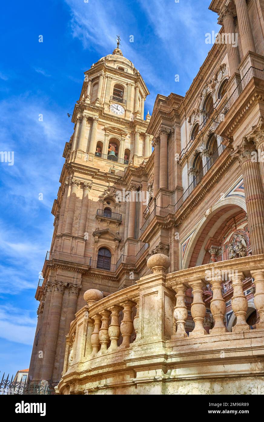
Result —
[{"label": "upper iron railing crossing the facade's arched windows to the right edge", "polygon": [[232,92],[229,98],[226,97],[225,100],[223,100],[223,98],[225,97],[225,95],[223,95],[221,99],[220,98],[217,99],[217,101],[213,104],[213,107],[211,107],[211,109],[208,112],[202,111],[203,121],[199,125],[199,130],[195,135],[192,136],[187,146],[181,150],[180,155],[179,155],[179,160],[181,160],[183,155],[192,146],[193,141],[197,139],[198,135],[200,134],[200,131],[205,127],[207,122],[209,121],[212,122],[213,127],[216,130],[216,128],[221,123],[221,121],[224,120],[224,116],[227,114],[229,109],[232,107],[232,105],[235,103],[235,101],[237,100],[241,92],[245,89],[245,87],[248,85],[249,81],[251,81],[253,77],[264,80],[264,69],[261,70],[258,68],[253,68],[251,66],[248,69],[248,71],[245,73],[240,83],[234,89],[234,91]]}]

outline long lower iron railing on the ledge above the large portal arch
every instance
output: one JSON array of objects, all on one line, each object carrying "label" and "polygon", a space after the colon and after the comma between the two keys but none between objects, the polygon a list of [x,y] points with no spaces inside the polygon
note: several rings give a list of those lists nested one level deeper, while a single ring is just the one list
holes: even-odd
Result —
[{"label": "long lower iron railing on the ledge above the large portal arch", "polygon": [[141,227],[140,229],[141,234],[144,233],[149,223],[154,219],[156,215],[160,217],[166,217],[168,214],[176,213],[176,211],[181,207],[181,205],[184,203],[184,201],[187,199],[187,197],[190,195],[193,189],[197,186],[197,184],[200,182],[203,176],[207,173],[209,168],[211,168],[213,163],[221,155],[224,149],[225,149],[225,146],[220,145],[218,149],[216,149],[216,151],[214,151],[213,154],[210,157],[208,157],[208,160],[206,164],[203,166],[202,170],[200,170],[199,173],[197,173],[192,183],[187,187],[187,189],[184,191],[183,195],[180,197],[180,199],[176,202],[175,205],[168,205],[165,208],[155,206],[153,211],[149,214],[147,220],[144,222],[144,225]]}]

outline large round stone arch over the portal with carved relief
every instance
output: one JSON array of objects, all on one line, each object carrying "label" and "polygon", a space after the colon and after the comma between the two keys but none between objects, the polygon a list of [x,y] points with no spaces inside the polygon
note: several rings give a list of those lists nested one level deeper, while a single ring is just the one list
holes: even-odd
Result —
[{"label": "large round stone arch over the portal with carved relief", "polygon": [[[203,250],[203,245],[206,243],[206,240],[210,238],[211,233],[213,233],[213,230],[217,230],[218,227],[224,222],[224,219],[226,219],[229,215],[231,216],[236,211],[245,211],[247,212],[245,200],[242,199],[242,197],[225,197],[222,200],[215,203],[210,208],[210,214],[208,217],[205,215],[200,219],[200,222],[197,224],[197,227],[195,228],[194,233],[192,234],[189,243],[186,247],[186,251],[184,253],[184,259],[182,260],[182,266],[181,268],[189,268],[190,262],[192,259],[192,255],[195,249],[195,246],[197,244],[197,241],[199,240],[201,233],[204,236],[204,240],[202,241],[202,244],[200,245],[200,252],[197,253],[197,264],[196,265],[202,265],[203,264],[203,257],[205,255],[205,251]],[[221,211],[221,212],[219,212]],[[218,217],[217,222],[213,222],[213,218]],[[212,227],[210,227],[210,230],[205,230],[206,226],[208,226],[208,223],[211,221],[213,223]],[[218,227],[217,227],[218,226]],[[209,227],[208,227],[209,228]],[[199,263],[200,262],[200,263]]]}]

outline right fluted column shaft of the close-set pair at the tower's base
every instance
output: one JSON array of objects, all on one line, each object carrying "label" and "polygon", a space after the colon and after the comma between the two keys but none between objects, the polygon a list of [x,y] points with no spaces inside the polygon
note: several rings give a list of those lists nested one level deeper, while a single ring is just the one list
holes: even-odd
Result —
[{"label": "right fluted column shaft of the close-set pair at the tower's base", "polygon": [[65,284],[55,282],[49,309],[49,327],[45,350],[43,354],[42,379],[50,381],[53,375],[56,346],[61,320],[61,305]]}]

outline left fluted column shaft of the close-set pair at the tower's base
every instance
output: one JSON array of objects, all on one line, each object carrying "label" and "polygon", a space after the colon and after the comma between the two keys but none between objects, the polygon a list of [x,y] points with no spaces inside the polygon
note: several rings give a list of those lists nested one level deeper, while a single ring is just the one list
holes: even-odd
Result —
[{"label": "left fluted column shaft of the close-set pair at the tower's base", "polygon": [[45,302],[44,302],[43,315],[42,315],[41,325],[40,325],[40,334],[39,334],[37,350],[36,350],[35,371],[33,371],[33,380],[37,380],[37,381],[39,381],[40,379],[43,379],[41,377],[40,367],[43,361],[43,347],[44,347],[45,333],[47,330],[47,322],[48,322],[49,309],[50,309],[50,303],[51,303],[51,294],[52,294],[52,284],[47,282],[45,284],[43,297],[42,297],[42,300],[45,300]]}]

